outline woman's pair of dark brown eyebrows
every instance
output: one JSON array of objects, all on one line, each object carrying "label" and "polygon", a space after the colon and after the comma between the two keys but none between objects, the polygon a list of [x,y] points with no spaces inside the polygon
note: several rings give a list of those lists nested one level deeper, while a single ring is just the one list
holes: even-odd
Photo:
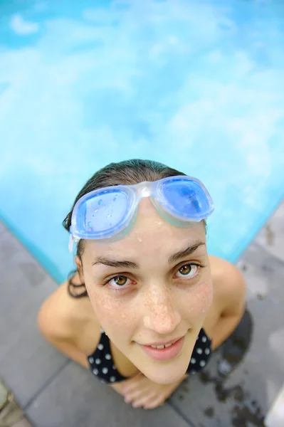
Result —
[{"label": "woman's pair of dark brown eyebrows", "polygon": [[[191,243],[188,248],[182,249],[181,251],[178,251],[176,253],[173,253],[169,257],[169,264],[175,263],[178,260],[181,260],[182,258],[186,258],[186,256],[191,255],[194,253],[200,246],[205,246],[205,242],[202,241],[196,241],[194,243]],[[132,268],[137,270],[140,268],[140,265],[137,263],[134,263],[133,261],[128,260],[112,260],[111,258],[105,258],[102,256],[99,256],[98,258],[95,258],[95,261],[92,263],[92,265],[108,265],[109,267],[115,267],[115,268]]]}]

